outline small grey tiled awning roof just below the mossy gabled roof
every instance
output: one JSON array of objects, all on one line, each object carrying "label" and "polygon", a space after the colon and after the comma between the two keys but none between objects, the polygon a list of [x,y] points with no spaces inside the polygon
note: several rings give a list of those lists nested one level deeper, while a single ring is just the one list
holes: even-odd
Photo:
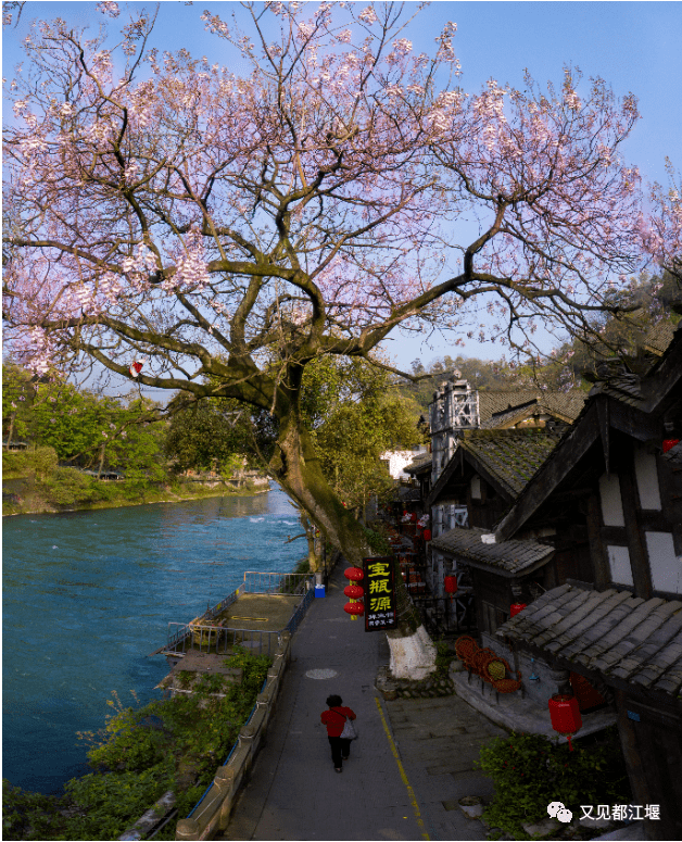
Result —
[{"label": "small grey tiled awning roof just below the mossy gabled roof", "polygon": [[434,538],[431,543],[437,550],[456,555],[465,564],[481,566],[517,574],[526,570],[536,562],[548,561],[554,548],[538,541],[504,541],[488,544],[481,541],[485,529],[462,529],[455,527]]}]

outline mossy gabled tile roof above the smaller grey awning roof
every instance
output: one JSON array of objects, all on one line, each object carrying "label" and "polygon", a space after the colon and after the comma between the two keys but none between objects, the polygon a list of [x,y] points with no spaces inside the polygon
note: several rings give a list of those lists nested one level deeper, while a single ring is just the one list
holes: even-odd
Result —
[{"label": "mossy gabled tile roof above the smaller grey awning roof", "polygon": [[545,428],[466,430],[459,447],[516,498],[558,441],[559,436]]}]

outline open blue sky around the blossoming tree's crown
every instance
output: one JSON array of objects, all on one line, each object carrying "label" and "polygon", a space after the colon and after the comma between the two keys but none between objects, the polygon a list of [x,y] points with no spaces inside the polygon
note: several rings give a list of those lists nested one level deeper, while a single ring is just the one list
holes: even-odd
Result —
[{"label": "open blue sky around the blossoming tree's crown", "polygon": [[[366,4],[366,0],[358,3]],[[124,22],[127,7],[153,8],[152,3],[119,5],[122,16],[112,25]],[[405,5],[416,11],[417,3]],[[212,62],[225,61],[223,42],[205,33],[199,21],[204,9],[224,20],[232,12],[238,21],[243,15],[240,4],[232,2],[162,2],[155,43],[172,51],[185,47]],[[18,26],[3,32],[4,77],[12,77],[13,66],[22,59],[18,43],[30,22],[58,15],[92,28],[104,20],[92,2],[27,2]],[[433,38],[447,21],[457,24],[454,48],[463,71],[458,84],[467,92],[479,91],[491,77],[522,88],[525,68],[540,84],[553,81],[558,87],[564,66],[577,66],[584,75],[583,86],[590,77],[601,76],[617,97],[632,92],[639,98],[642,120],[626,141],[623,154],[646,180],[667,184],[666,156],[682,169],[682,2],[434,2],[406,33],[415,51],[432,52]],[[500,355],[494,344],[471,341],[455,349],[437,336],[427,341],[395,335],[387,350],[407,369],[415,357],[428,364],[447,353]]]}]

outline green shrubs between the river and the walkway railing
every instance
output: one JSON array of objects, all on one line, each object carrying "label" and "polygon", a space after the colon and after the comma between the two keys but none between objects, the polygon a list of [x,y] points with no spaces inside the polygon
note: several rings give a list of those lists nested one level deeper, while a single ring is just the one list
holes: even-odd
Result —
[{"label": "green shrubs between the river and the walkway railing", "polygon": [[[192,695],[124,708],[116,694],[99,734],[83,734],[96,769],[66,784],[66,797],[51,799],[3,783],[4,839],[117,839],[167,790],[176,791],[186,816],[225,761],[261,692],[271,658],[242,648],[226,659],[242,670],[241,682],[202,675]],[[219,692],[222,698],[214,695]],[[156,719],[154,727],[150,717]],[[176,781],[184,778],[182,791]],[[187,782],[189,779],[189,783]],[[68,808],[67,815],[60,809]],[[175,822],[157,837],[175,839]]]}]

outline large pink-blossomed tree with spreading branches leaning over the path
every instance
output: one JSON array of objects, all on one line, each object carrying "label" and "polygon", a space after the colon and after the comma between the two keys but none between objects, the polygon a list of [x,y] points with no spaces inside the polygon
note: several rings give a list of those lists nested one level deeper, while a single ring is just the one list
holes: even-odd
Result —
[{"label": "large pink-blossomed tree with spreading branches leaning over the path", "polygon": [[[149,16],[116,48],[61,20],[27,39],[4,133],[7,334],[38,373],[141,361],[173,405],[266,410],[271,476],[357,562],[364,533],[302,423],[305,366],[367,357],[399,326],[466,331],[477,302],[517,350],[539,318],[585,328],[640,260],[639,175],[618,152],[636,105],[598,79],[581,98],[569,71],[558,90],[466,96],[454,24],[415,55],[392,5],[243,16],[248,33],[201,16],[243,76],[161,54]],[[472,215],[480,236],[457,242]]]}]

